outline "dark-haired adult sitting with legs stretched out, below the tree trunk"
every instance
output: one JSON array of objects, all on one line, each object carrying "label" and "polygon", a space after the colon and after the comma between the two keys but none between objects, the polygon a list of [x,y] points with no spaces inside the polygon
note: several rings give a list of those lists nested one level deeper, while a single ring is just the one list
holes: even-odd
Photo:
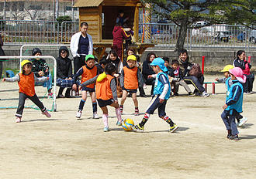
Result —
[{"label": "dark-haired adult sitting with legs stretched out, below the tree trunk", "polygon": [[189,62],[189,55],[186,49],[182,49],[178,58],[179,66],[182,69],[183,79],[185,83],[192,84],[195,87],[194,93],[199,93],[203,97],[208,97],[209,94],[206,93],[205,88],[202,86],[204,81],[204,76],[199,74],[199,76],[192,76],[189,71],[192,69],[192,62]]}]

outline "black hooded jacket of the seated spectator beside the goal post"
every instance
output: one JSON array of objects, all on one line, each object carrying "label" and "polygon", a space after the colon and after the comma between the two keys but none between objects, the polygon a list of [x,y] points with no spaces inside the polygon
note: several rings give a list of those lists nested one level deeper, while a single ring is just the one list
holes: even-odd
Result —
[{"label": "black hooded jacket of the seated spectator beside the goal post", "polygon": [[[66,58],[61,57],[61,51],[67,52]],[[69,52],[66,46],[61,46],[59,49],[59,57],[57,58],[57,78],[66,79],[72,77],[71,59],[68,58]]]}]

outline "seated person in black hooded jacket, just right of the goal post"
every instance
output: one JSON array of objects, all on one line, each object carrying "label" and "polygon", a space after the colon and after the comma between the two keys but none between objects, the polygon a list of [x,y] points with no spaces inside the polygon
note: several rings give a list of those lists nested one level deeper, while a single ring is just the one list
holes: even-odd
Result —
[{"label": "seated person in black hooded jacket, just right of the goal post", "polygon": [[65,97],[71,97],[72,81],[72,64],[71,59],[68,58],[69,52],[66,46],[61,46],[59,49],[59,57],[57,58],[57,84],[60,86],[57,98],[63,98],[63,90],[67,87]]}]

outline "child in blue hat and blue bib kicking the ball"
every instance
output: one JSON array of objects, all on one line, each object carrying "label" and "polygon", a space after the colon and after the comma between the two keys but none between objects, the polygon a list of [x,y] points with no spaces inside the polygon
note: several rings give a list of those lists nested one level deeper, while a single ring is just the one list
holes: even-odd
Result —
[{"label": "child in blue hat and blue bib kicking the ball", "polygon": [[143,120],[133,127],[133,130],[136,132],[143,132],[144,125],[150,117],[150,114],[154,113],[154,110],[158,108],[158,116],[161,117],[164,121],[166,121],[170,125],[170,132],[173,133],[178,129],[178,126],[173,123],[170,117],[166,116],[165,106],[167,100],[169,99],[171,93],[171,86],[168,80],[168,76],[166,74],[167,68],[164,66],[164,60],[161,58],[156,58],[153,62],[150,63],[152,66],[156,81],[154,85],[154,96],[150,101],[150,105],[147,107],[147,111],[144,115]]}]

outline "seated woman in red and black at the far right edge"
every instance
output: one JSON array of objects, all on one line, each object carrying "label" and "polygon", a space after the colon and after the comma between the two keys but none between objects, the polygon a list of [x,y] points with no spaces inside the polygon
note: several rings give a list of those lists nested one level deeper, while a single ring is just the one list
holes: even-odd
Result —
[{"label": "seated woman in red and black at the far right edge", "polygon": [[254,83],[254,73],[250,72],[251,63],[246,60],[245,51],[238,50],[237,51],[237,58],[234,59],[233,62],[234,67],[239,67],[243,70],[243,74],[246,76],[246,82],[243,84],[244,86],[244,93],[245,94],[252,94],[252,88]]}]

